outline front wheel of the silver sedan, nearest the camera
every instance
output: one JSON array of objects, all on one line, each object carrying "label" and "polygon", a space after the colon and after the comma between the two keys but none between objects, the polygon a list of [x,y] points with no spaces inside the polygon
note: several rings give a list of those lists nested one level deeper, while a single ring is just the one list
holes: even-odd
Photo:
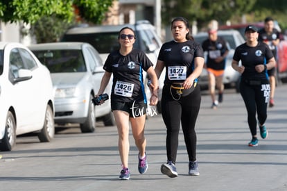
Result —
[{"label": "front wheel of the silver sedan, nearest the camera", "polygon": [[87,119],[83,124],[80,124],[80,131],[82,133],[92,133],[96,128],[96,115],[95,115],[95,106],[92,103],[92,95],[89,97],[89,110]]}]

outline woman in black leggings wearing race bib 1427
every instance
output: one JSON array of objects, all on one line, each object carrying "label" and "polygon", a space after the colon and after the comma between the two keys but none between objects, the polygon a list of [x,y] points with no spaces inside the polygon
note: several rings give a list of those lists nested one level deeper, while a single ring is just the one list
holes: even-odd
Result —
[{"label": "woman in black leggings wearing race bib 1427", "polygon": [[167,163],[162,164],[163,174],[177,177],[175,168],[180,123],[189,154],[189,175],[199,175],[196,161],[195,122],[200,109],[198,76],[204,65],[202,47],[189,35],[189,23],[183,17],[171,22],[174,40],[162,45],[155,72],[157,78],[164,67],[166,77],[162,94],[162,117],[166,124]]}]

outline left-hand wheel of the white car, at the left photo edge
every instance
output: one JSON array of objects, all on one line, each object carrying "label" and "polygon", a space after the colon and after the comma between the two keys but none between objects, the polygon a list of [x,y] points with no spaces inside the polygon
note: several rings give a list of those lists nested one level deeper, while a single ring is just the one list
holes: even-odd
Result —
[{"label": "left-hand wheel of the white car, at the left photo edge", "polygon": [[16,122],[15,117],[9,111],[6,118],[5,134],[0,142],[1,151],[12,151],[16,144]]}]

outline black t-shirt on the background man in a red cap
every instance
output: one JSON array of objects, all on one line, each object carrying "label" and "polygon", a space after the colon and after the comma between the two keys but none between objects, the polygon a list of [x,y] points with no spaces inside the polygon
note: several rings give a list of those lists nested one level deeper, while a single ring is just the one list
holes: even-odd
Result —
[{"label": "black t-shirt on the background man in a red cap", "polygon": [[220,63],[216,63],[216,58],[223,56],[225,51],[228,50],[226,42],[223,38],[218,37],[216,41],[211,41],[209,39],[202,42],[202,49],[203,51],[207,51],[207,67],[212,69],[225,69],[225,62],[224,59]]}]

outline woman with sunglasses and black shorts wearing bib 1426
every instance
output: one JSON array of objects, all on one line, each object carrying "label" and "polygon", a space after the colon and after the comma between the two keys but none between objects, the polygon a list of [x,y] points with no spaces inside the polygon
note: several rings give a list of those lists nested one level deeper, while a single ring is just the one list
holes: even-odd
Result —
[{"label": "woman with sunglasses and black shorts wearing bib 1426", "polygon": [[146,138],[144,136],[148,101],[143,88],[143,70],[147,72],[152,83],[155,84],[154,89],[151,90],[150,105],[155,106],[158,101],[157,76],[153,69],[153,63],[150,62],[143,51],[133,49],[135,40],[136,37],[132,28],[124,27],[119,31],[119,44],[121,47],[107,57],[103,67],[105,74],[96,95],[98,97],[98,95],[103,94],[113,74],[111,106],[119,133],[118,145],[122,164],[119,179],[121,180],[130,178],[130,170],[128,169],[129,124],[131,124],[132,135],[139,150],[139,173],[143,174],[148,169]]}]

